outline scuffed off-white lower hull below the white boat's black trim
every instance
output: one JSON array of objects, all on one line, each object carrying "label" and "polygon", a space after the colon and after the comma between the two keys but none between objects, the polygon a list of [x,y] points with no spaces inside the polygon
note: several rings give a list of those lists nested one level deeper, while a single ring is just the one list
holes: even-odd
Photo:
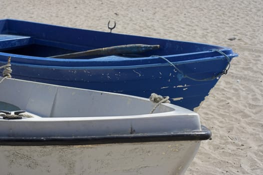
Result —
[{"label": "scuffed off-white lower hull below the white boat's black trim", "polygon": [[1,174],[183,174],[200,141],[0,146]]}]

